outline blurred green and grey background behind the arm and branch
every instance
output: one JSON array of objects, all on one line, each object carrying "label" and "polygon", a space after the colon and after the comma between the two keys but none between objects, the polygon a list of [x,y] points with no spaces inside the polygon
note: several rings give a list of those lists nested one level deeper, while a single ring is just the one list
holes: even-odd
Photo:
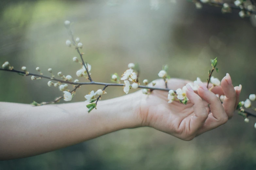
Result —
[{"label": "blurred green and grey background behind the arm and branch", "polygon": [[[83,43],[94,81],[110,82],[111,74],[121,75],[130,62],[140,64],[141,79],[156,79],[168,64],[171,77],[205,80],[210,59],[218,57],[219,73],[213,76],[230,73],[234,85],[243,85],[242,100],[256,93],[254,24],[241,19],[238,11],[222,14],[211,6],[198,10],[185,0],[3,0],[0,63],[9,61],[19,70],[26,66],[31,73],[39,66],[48,76],[52,68],[56,76],[62,71],[76,78],[80,65],[72,61],[76,51],[65,45],[65,20]],[[43,102],[62,95],[47,82],[0,72],[0,101]],[[83,86],[72,102],[85,100],[96,89]],[[118,87],[107,92],[103,99],[124,95]],[[42,155],[1,161],[0,170],[251,170],[256,169],[255,122],[250,118],[244,123],[235,114],[225,125],[188,142],[148,127],[121,130]]]}]

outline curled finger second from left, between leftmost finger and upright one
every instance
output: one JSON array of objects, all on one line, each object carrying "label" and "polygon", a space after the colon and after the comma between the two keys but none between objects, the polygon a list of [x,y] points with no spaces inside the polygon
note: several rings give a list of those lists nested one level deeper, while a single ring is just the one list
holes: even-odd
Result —
[{"label": "curled finger second from left, between leftmost finger and upright one", "polygon": [[212,115],[217,120],[211,123],[210,128],[213,129],[227,122],[228,116],[219,98],[213,92],[208,91],[208,89],[202,82],[199,83],[198,95],[207,103],[209,103]]}]

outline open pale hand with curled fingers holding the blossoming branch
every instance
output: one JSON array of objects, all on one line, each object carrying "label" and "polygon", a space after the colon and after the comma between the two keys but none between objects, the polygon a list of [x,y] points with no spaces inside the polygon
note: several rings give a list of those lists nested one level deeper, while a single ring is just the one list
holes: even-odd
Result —
[{"label": "open pale hand with curled fingers holding the blossoming branch", "polygon": [[[189,82],[172,78],[167,86],[177,90]],[[225,124],[233,116],[242,86],[234,88],[229,74],[222,79],[221,86],[213,87],[211,91],[205,85],[206,83],[201,83],[197,92],[187,85],[191,91],[186,92],[189,99],[186,105],[177,101],[167,103],[168,92],[153,91],[150,95],[145,95],[140,106],[142,125],[182,140],[192,140],[197,135]],[[156,86],[164,88],[164,81],[157,80]],[[215,94],[225,95],[223,104]]]}]

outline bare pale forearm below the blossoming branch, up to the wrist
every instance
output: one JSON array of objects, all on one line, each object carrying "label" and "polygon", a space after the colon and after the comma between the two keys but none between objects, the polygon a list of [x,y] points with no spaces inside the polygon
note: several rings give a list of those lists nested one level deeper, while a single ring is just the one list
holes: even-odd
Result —
[{"label": "bare pale forearm below the blossoming branch, up to the wrist", "polygon": [[[99,101],[31,106],[0,102],[0,159],[37,155],[140,125],[138,93]],[[138,116],[137,116],[138,115]]]}]

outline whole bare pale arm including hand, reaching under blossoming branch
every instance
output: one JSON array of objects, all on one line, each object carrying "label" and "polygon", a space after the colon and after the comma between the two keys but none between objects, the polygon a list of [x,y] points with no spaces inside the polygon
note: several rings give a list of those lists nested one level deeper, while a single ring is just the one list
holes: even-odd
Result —
[{"label": "whole bare pale arm including hand, reaching under blossoming branch", "polygon": [[[170,79],[168,88],[182,88],[189,81]],[[158,80],[158,87],[165,87]],[[212,130],[233,116],[241,87],[229,75],[212,92],[187,91],[187,105],[167,103],[168,92],[141,91],[98,102],[87,113],[85,102],[31,106],[0,102],[0,160],[23,158],[74,145],[127,128],[150,126],[182,140]],[[223,104],[214,93],[225,94]],[[210,108],[208,105],[210,104]],[[210,111],[211,109],[211,111]]]}]

